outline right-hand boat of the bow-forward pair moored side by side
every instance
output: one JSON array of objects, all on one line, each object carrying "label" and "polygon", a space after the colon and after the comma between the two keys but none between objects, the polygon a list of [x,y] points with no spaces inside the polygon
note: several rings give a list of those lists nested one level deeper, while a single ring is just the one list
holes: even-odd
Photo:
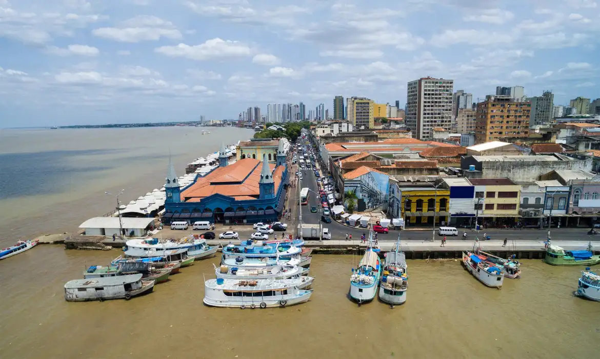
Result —
[{"label": "right-hand boat of the bow-forward pair moored side by side", "polygon": [[406,301],[406,290],[408,288],[406,255],[400,249],[400,234],[396,242],[395,250],[385,255],[383,275],[379,285],[379,299],[385,303],[402,304]]}]

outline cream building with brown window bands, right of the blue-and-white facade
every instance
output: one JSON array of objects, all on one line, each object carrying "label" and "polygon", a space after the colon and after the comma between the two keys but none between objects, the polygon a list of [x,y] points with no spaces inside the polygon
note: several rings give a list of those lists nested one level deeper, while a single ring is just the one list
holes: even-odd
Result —
[{"label": "cream building with brown window bands, right of the blue-and-white facade", "polygon": [[[469,178],[475,186],[475,201],[479,198],[479,223],[512,224],[519,215],[521,186],[509,178]],[[481,220],[484,218],[484,220]]]}]

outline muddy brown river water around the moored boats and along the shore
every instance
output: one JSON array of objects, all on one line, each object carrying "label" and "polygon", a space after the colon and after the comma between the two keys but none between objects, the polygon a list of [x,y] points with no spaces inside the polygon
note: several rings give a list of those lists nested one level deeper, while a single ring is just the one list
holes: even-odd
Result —
[{"label": "muddy brown river water around the moored boats and along the shore", "polygon": [[[0,246],[76,229],[185,163],[252,136],[241,129],[2,130]],[[457,261],[409,261],[407,302],[348,300],[357,256],[316,255],[308,303],[284,309],[202,304],[218,259],[196,262],[130,301],[67,303],[64,283],[121,252],[38,246],[0,261],[0,358],[593,358],[600,303],[572,296],[583,268],[523,261],[490,289]]]}]

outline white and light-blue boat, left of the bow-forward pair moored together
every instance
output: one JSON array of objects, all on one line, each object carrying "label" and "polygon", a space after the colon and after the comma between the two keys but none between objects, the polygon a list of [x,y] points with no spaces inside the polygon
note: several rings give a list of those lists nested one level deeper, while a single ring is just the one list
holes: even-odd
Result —
[{"label": "white and light-blue boat, left of the bow-forward pair moored together", "polygon": [[369,233],[368,243],[367,251],[362,256],[358,268],[356,270],[352,268],[352,276],[350,276],[350,297],[359,304],[375,298],[382,270],[379,255],[371,247],[373,243],[372,229]]}]

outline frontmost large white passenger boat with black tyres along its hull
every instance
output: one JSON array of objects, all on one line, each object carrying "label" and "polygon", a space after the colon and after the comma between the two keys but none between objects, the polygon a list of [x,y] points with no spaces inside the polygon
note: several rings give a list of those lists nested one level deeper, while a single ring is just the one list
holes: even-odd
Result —
[{"label": "frontmost large white passenger boat with black tyres along its hull", "polygon": [[298,279],[209,279],[204,283],[204,304],[212,307],[254,309],[287,307],[308,301],[313,291],[299,289]]}]

